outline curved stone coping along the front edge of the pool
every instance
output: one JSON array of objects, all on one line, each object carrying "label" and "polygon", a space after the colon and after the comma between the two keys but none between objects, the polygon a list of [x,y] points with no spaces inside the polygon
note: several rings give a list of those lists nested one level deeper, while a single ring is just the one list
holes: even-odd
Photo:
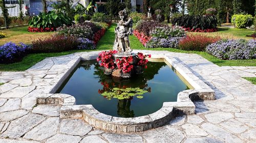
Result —
[{"label": "curved stone coping along the front edge of the pool", "polygon": [[96,110],[92,105],[74,105],[75,98],[67,94],[42,94],[37,104],[58,104],[60,118],[83,119],[91,126],[112,132],[140,132],[167,124],[177,111],[195,113],[193,100],[214,99],[214,93],[205,90],[185,90],[178,94],[177,102],[164,102],[162,108],[150,115],[135,118],[119,118]]}]

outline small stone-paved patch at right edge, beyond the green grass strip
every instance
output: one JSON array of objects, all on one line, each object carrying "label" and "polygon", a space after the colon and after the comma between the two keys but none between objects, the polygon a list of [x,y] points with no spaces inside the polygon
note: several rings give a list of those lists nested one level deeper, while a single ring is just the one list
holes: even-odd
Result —
[{"label": "small stone-paved patch at right edge, beyond the green grass strip", "polygon": [[223,66],[223,70],[228,70],[241,77],[256,77],[256,66],[243,67],[243,66]]}]

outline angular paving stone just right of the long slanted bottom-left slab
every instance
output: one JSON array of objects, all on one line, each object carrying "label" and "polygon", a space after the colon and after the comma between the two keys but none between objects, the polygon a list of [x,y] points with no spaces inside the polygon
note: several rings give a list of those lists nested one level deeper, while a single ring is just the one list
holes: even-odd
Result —
[{"label": "angular paving stone just right of the long slanted bottom-left slab", "polygon": [[31,131],[26,133],[24,138],[33,140],[44,140],[56,134],[58,124],[58,117],[48,118],[46,121],[42,122],[41,124],[33,128]]}]

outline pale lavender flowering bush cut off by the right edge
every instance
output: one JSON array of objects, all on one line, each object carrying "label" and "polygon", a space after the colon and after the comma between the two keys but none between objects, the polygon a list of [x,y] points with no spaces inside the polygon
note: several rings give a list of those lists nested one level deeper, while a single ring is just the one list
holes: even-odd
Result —
[{"label": "pale lavender flowering bush cut off by the right edge", "polygon": [[221,40],[208,45],[206,51],[222,60],[256,59],[256,40]]}]

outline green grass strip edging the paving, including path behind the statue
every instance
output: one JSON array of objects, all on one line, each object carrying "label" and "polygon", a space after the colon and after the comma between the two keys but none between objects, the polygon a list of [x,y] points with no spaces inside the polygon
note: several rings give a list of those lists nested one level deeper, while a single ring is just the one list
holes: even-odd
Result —
[{"label": "green grass strip edging the paving, including path behind the statue", "polygon": [[[96,50],[109,50],[113,47],[115,40],[115,27],[116,24],[112,24],[111,27],[106,31],[105,35],[100,39],[97,44]],[[135,36],[130,36],[131,47],[133,49],[146,49]],[[173,48],[154,48],[147,50],[166,50],[171,52],[182,52],[182,53],[196,53],[203,56],[208,61],[219,65],[219,66],[256,66],[256,59],[254,60],[220,60],[215,56],[212,56],[206,52],[200,51],[185,51]],[[74,52],[82,51],[93,51],[93,50],[71,50],[59,53],[37,53],[29,54],[23,58],[21,62],[13,64],[0,64],[0,71],[24,71],[33,66],[34,64],[44,60],[47,57],[66,55]]]}]

